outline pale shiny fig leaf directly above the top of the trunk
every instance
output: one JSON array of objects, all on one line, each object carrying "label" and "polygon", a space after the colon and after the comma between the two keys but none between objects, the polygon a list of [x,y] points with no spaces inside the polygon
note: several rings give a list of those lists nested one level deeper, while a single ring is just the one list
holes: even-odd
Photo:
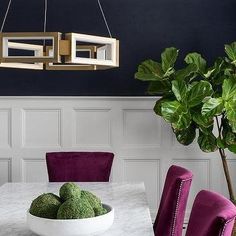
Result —
[{"label": "pale shiny fig leaf directly above the top of the trunk", "polygon": [[202,115],[213,117],[220,115],[224,109],[224,101],[222,98],[209,98],[202,106]]}]

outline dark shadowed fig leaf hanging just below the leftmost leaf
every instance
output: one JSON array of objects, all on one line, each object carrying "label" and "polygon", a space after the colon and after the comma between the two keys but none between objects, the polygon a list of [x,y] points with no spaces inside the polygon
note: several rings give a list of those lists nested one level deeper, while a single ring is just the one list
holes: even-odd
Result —
[{"label": "dark shadowed fig leaf hanging just below the leftmost leaf", "polygon": [[171,84],[167,80],[151,81],[147,90],[150,95],[160,95],[169,91],[171,91]]}]

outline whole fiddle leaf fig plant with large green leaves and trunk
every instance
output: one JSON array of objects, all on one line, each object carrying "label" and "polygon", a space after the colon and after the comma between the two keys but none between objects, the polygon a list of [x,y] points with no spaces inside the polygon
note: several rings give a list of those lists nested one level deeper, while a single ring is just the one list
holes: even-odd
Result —
[{"label": "whole fiddle leaf fig plant with large green leaves and trunk", "polygon": [[225,53],[211,67],[199,53],[189,53],[184,67],[177,69],[179,50],[166,48],[160,62],[142,62],[135,78],[149,82],[148,94],[161,94],[154,112],[171,124],[179,143],[190,145],[197,139],[202,151],[218,150],[235,202],[225,150],[236,153],[236,42],[225,45]]}]

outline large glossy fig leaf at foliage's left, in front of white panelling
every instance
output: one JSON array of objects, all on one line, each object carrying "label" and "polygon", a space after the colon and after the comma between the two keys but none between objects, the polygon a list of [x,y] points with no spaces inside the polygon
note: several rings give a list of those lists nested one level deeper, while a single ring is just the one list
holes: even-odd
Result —
[{"label": "large glossy fig leaf at foliage's left, in front of white panelling", "polygon": [[167,122],[172,123],[173,128],[178,130],[188,128],[191,123],[188,109],[178,101],[163,102],[161,114]]}]

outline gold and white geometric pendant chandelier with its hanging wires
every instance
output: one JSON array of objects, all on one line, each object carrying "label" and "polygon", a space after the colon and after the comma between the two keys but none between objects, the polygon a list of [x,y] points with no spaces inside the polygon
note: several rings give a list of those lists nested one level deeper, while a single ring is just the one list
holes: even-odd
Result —
[{"label": "gold and white geometric pendant chandelier with its hanging wires", "polygon": [[110,37],[79,33],[2,32],[0,29],[0,67],[34,70],[104,70],[119,67],[119,41],[112,38],[100,0],[98,5]]}]

